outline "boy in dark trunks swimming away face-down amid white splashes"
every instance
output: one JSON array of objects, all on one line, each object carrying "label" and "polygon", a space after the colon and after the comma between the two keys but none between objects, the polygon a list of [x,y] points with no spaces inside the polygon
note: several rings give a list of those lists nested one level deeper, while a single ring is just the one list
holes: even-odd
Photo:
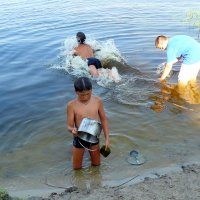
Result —
[{"label": "boy in dark trunks swimming away face-down amid white splashes", "polygon": [[76,38],[78,46],[74,48],[73,55],[80,56],[83,60],[87,61],[89,73],[92,75],[92,77],[107,75],[114,81],[119,80],[119,74],[115,68],[112,70],[103,69],[100,60],[94,56],[95,51],[99,51],[99,49],[94,50],[89,44],[85,43],[86,36],[83,32],[78,32],[76,34]]}]

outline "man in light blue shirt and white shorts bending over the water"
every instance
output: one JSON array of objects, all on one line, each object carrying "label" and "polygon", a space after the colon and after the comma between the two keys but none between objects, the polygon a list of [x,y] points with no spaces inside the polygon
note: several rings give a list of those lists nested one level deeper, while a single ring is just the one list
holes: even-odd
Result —
[{"label": "man in light blue shirt and white shorts bending over the water", "polygon": [[200,44],[196,40],[186,35],[172,38],[160,35],[155,40],[155,46],[167,51],[167,63],[160,81],[165,80],[173,64],[178,61],[182,61],[178,75],[179,83],[186,85],[189,81],[196,81],[200,70]]}]

